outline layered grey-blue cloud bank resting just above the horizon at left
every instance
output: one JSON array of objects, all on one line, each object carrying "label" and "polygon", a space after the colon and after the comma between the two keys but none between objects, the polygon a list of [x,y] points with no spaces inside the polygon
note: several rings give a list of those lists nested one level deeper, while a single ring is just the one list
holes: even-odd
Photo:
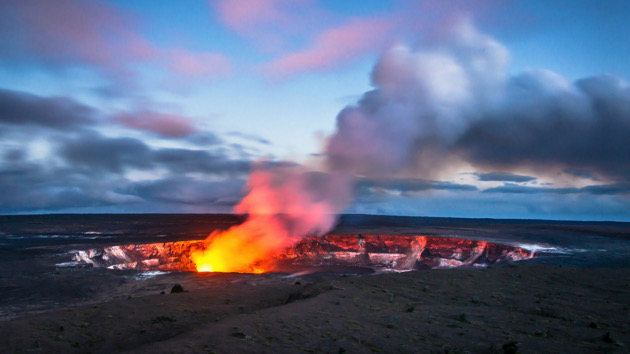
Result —
[{"label": "layered grey-blue cloud bank resting just above the horizon at left", "polygon": [[221,149],[155,148],[91,130],[58,134],[50,144],[45,158],[22,149],[0,155],[0,213],[229,212],[250,167]]}]

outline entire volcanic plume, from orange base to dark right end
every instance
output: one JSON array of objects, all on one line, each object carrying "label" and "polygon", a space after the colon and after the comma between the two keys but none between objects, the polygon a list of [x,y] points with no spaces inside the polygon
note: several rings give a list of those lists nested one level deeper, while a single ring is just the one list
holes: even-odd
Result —
[{"label": "entire volcanic plume, from orange base to dark right end", "polygon": [[[572,84],[546,70],[510,76],[507,49],[469,21],[438,37],[421,50],[397,44],[381,56],[374,89],[339,113],[315,167],[254,166],[249,194],[235,210],[247,221],[210,235],[205,249],[192,254],[197,269],[264,272],[272,255],[330,230],[356,180],[431,178],[462,161],[482,171],[524,164],[630,175],[630,155],[618,148],[630,134],[619,119],[630,114],[620,80]],[[613,155],[627,163],[601,158]]]}]

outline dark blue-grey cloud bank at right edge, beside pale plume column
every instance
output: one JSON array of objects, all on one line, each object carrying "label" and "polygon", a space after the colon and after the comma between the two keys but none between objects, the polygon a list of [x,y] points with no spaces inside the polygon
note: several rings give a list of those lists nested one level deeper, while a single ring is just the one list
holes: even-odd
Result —
[{"label": "dark blue-grey cloud bank at right edge, beside pale plume column", "polygon": [[481,166],[597,171],[630,180],[630,90],[610,76],[568,87],[528,73],[508,83],[502,111],[471,124],[454,147]]}]

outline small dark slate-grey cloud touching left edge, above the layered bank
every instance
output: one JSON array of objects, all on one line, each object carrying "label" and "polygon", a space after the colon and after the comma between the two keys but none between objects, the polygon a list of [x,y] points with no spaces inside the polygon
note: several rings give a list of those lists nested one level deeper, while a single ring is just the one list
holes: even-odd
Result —
[{"label": "small dark slate-grey cloud touching left edge, above the layered bank", "polygon": [[0,124],[76,129],[95,123],[96,112],[67,97],[41,97],[0,89]]}]

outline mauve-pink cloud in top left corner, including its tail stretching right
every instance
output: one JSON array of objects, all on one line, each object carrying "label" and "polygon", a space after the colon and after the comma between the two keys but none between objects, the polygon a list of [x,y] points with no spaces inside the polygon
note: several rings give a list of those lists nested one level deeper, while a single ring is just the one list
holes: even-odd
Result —
[{"label": "mauve-pink cloud in top left corner, including its tail stretching right", "polygon": [[50,68],[87,66],[117,82],[137,84],[134,64],[155,65],[175,77],[229,75],[223,54],[161,48],[137,31],[137,19],[97,1],[8,0],[0,3],[0,61]]}]

